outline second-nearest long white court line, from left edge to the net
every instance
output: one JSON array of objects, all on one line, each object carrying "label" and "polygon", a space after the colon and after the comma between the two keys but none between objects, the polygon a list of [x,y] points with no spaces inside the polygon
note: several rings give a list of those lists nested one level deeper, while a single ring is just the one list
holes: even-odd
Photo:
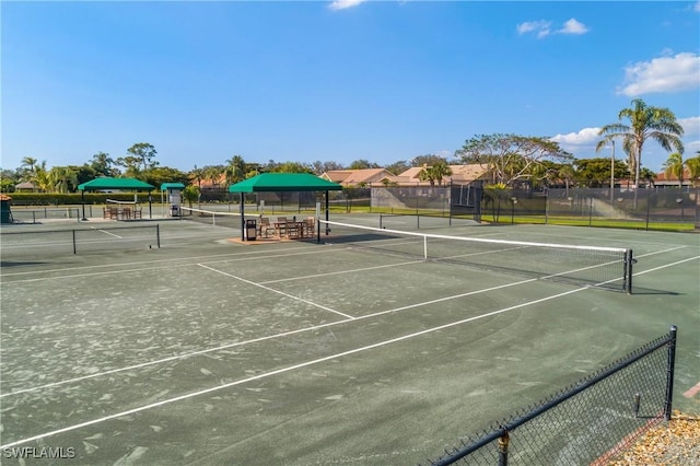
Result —
[{"label": "second-nearest long white court line, from left edge to the net", "polygon": [[384,314],[392,314],[392,313],[396,313],[396,312],[399,312],[399,311],[406,311],[406,310],[410,310],[410,308],[415,308],[415,307],[435,304],[435,303],[439,303],[439,302],[456,300],[456,299],[459,299],[459,298],[471,296],[471,295],[475,295],[475,294],[488,293],[490,291],[501,290],[501,289],[510,288],[510,287],[516,287],[516,286],[520,286],[520,284],[523,284],[523,283],[529,283],[532,281],[535,281],[535,279],[517,281],[517,282],[514,282],[514,283],[500,284],[498,287],[486,288],[486,289],[482,289],[482,290],[468,291],[466,293],[460,293],[460,294],[456,294],[456,295],[452,295],[452,296],[440,298],[438,300],[425,301],[425,302],[417,303],[417,304],[410,304],[410,305],[402,306],[402,307],[395,307],[395,308],[392,308],[392,310],[380,311],[380,312],[375,312],[373,314],[366,314],[366,315],[362,315],[362,316],[354,317],[354,318],[346,318],[346,319],[342,319],[342,321],[329,322],[327,324],[314,325],[314,326],[311,326],[311,327],[299,328],[296,330],[289,330],[289,331],[283,331],[281,334],[267,335],[265,337],[253,338],[250,340],[236,341],[234,343],[222,345],[222,346],[214,347],[214,348],[209,348],[209,349],[206,349],[206,350],[192,351],[192,352],[172,356],[172,357],[168,357],[168,358],[163,358],[163,359],[159,359],[159,360],[154,360],[154,361],[142,362],[140,364],[129,365],[129,366],[126,366],[126,368],[113,369],[113,370],[109,370],[109,371],[97,372],[97,373],[90,374],[90,375],[82,375],[80,377],[68,378],[66,381],[54,382],[54,383],[46,384],[46,385],[39,385],[39,386],[36,386],[36,387],[23,388],[23,389],[19,389],[19,391],[15,391],[15,392],[0,394],[0,398],[3,398],[5,396],[11,396],[11,395],[19,395],[19,394],[22,394],[22,393],[37,392],[37,391],[40,391],[40,389],[44,389],[44,388],[50,388],[50,387],[55,387],[55,386],[59,386],[59,385],[71,384],[71,383],[75,383],[75,382],[80,382],[80,381],[85,381],[85,380],[89,380],[89,378],[100,377],[100,376],[103,376],[103,375],[115,374],[115,373],[118,373],[118,372],[131,371],[133,369],[147,368],[149,365],[162,364],[164,362],[177,361],[177,360],[180,360],[180,359],[187,359],[187,358],[191,358],[191,357],[195,357],[195,356],[207,354],[209,352],[221,351],[221,350],[229,349],[229,348],[257,343],[257,342],[260,342],[260,341],[267,341],[267,340],[271,340],[271,339],[275,339],[275,338],[288,337],[290,335],[303,334],[303,333],[306,333],[306,331],[314,331],[314,330],[318,330],[318,329],[322,329],[322,328],[327,328],[327,327],[332,327],[332,326],[336,326],[336,325],[347,324],[347,323],[353,322],[353,321],[361,321],[361,319],[365,319],[365,318],[377,317],[377,316],[381,316],[381,315],[384,315]]}]

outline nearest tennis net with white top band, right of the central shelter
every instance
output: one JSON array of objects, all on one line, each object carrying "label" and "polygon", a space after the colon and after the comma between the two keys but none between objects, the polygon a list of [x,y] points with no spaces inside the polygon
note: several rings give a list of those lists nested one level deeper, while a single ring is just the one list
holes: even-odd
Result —
[{"label": "nearest tennis net with white top band, right of the central shelter", "polygon": [[447,236],[319,220],[327,244],[632,291],[632,249]]}]

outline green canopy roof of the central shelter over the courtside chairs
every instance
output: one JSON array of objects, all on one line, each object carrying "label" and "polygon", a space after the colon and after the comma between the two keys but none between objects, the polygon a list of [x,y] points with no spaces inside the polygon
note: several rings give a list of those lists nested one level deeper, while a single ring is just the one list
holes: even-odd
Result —
[{"label": "green canopy roof of the central shelter over the courtside chairs", "polygon": [[342,186],[310,173],[262,173],[229,186],[229,193],[328,191]]}]

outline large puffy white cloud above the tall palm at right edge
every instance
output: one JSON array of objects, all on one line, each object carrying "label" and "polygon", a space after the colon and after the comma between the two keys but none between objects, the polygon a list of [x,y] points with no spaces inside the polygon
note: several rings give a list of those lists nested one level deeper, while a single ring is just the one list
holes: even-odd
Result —
[{"label": "large puffy white cloud above the tall palm at right edge", "polygon": [[618,94],[639,96],[653,92],[688,91],[700,86],[700,56],[681,53],[640,61],[625,69],[625,84]]}]

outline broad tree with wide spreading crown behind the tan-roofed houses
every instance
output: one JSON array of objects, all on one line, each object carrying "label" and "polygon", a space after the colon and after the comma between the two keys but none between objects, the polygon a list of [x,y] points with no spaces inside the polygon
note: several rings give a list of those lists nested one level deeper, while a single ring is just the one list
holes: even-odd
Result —
[{"label": "broad tree with wide spreading crown behind the tan-roofed houses", "polygon": [[[532,179],[545,162],[570,162],[573,156],[549,138],[517,135],[481,135],[468,139],[456,155],[463,163],[477,163],[491,176],[492,184],[513,185]],[[542,175],[544,176],[544,175]]]}]

